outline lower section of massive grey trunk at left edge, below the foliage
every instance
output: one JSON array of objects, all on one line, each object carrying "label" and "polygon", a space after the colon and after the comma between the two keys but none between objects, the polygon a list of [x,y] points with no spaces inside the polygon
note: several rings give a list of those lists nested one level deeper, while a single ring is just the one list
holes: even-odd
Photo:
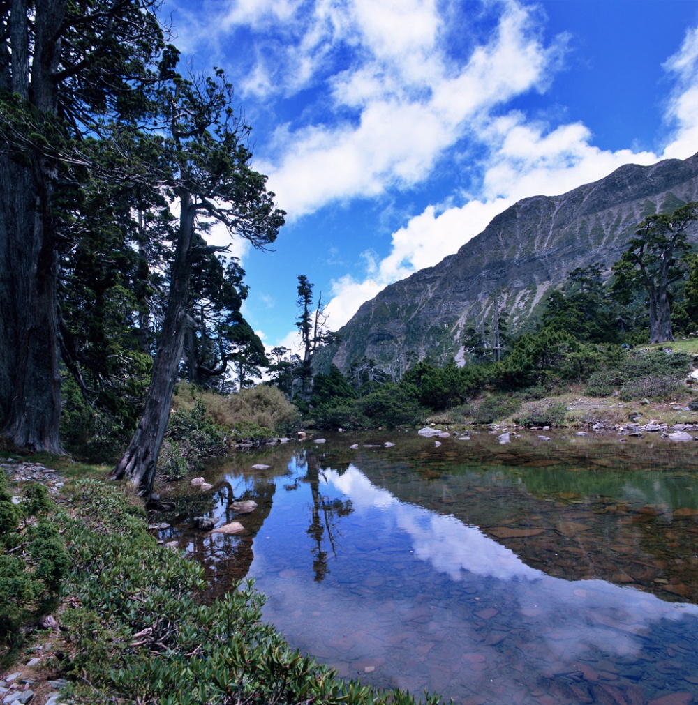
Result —
[{"label": "lower section of massive grey trunk at left edge, below the foliage", "polygon": [[23,448],[64,453],[50,185],[40,160],[33,167],[0,158],[2,433]]}]

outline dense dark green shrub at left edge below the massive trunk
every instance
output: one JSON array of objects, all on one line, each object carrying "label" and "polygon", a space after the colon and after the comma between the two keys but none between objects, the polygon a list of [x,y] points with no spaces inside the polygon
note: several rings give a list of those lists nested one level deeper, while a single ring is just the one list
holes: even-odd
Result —
[{"label": "dense dark green shrub at left edge below the massive trunk", "polygon": [[[69,559],[59,531],[49,520],[56,505],[46,488],[26,487],[12,503],[0,470],[0,643],[20,639],[20,627],[54,605]],[[33,521],[28,521],[33,517]]]}]

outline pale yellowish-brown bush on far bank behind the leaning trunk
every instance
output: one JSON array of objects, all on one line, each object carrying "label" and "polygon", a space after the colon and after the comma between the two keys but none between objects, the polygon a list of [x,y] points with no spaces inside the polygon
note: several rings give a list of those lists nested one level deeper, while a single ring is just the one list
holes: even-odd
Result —
[{"label": "pale yellowish-brown bush on far bank behind the leaning trunk", "polygon": [[300,423],[299,410],[289,402],[284,393],[266,384],[239,393],[222,395],[201,391],[192,384],[177,386],[172,399],[174,410],[191,410],[196,400],[206,407],[206,415],[218,426],[230,429],[251,425],[283,434]]}]

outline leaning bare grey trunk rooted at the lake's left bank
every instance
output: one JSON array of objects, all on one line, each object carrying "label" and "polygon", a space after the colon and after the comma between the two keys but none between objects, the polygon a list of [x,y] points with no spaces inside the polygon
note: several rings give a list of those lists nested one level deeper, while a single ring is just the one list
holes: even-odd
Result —
[{"label": "leaning bare grey trunk rooted at the lake's left bank", "polygon": [[145,496],[152,494],[157,457],[160,455],[160,446],[167,430],[172,393],[184,343],[195,209],[188,192],[182,191],[179,195],[179,237],[170,275],[167,311],[153,362],[145,410],[124,457],[112,472],[114,479],[128,479],[136,485],[138,493]]}]

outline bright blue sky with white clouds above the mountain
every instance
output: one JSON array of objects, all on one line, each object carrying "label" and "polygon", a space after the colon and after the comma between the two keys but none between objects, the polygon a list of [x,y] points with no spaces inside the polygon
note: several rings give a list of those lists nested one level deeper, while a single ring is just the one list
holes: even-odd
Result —
[{"label": "bright blue sky with white clouds above the mountain", "polygon": [[339,329],[499,212],[622,164],[698,152],[692,0],[166,0],[197,71],[224,68],[287,211],[235,243],[244,313],[291,344],[304,274]]}]

